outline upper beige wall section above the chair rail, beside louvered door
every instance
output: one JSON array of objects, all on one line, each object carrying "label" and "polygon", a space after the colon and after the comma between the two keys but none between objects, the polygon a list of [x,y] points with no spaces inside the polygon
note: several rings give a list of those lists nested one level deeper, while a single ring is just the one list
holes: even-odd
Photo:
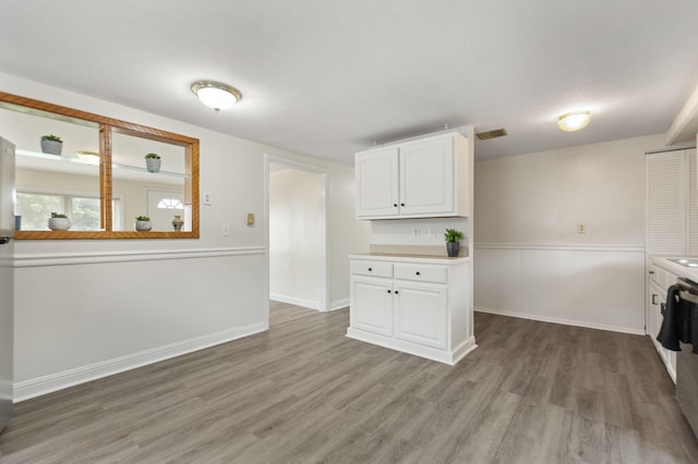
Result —
[{"label": "upper beige wall section above the chair rail, beside louvered door", "polygon": [[476,243],[643,245],[645,151],[662,147],[657,134],[476,162]]}]

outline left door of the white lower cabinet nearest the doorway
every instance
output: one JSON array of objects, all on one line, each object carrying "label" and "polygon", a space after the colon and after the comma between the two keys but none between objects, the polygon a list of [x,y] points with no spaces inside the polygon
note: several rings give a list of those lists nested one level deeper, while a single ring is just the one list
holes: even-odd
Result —
[{"label": "left door of the white lower cabinet nearest the doorway", "polygon": [[393,280],[351,277],[351,327],[393,337]]}]

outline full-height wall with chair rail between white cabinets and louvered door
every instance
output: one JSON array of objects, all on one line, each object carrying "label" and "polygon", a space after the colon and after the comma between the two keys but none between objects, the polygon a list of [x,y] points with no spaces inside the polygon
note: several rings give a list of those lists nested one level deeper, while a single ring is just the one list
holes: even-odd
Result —
[{"label": "full-height wall with chair rail between white cabinets and louvered door", "polygon": [[477,309],[645,333],[645,151],[661,148],[657,134],[476,162]]}]

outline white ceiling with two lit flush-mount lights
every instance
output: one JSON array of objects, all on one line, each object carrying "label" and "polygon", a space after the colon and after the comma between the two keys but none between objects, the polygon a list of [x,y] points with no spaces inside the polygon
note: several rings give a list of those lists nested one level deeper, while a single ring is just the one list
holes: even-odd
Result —
[{"label": "white ceiling with two lit flush-mount lights", "polygon": [[[2,72],[345,163],[445,124],[506,127],[478,158],[663,133],[698,84],[696,0],[22,0],[2,17]],[[215,113],[198,80],[243,99]],[[581,108],[587,129],[556,129]]]}]

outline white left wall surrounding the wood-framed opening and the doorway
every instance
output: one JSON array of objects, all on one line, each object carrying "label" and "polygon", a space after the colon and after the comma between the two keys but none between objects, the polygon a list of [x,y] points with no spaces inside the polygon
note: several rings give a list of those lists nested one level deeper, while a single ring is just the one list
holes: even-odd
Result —
[{"label": "white left wall surrounding the wood-framed opening and the doorway", "polygon": [[[3,91],[198,138],[201,191],[213,198],[201,206],[200,240],[15,244],[15,401],[267,328],[264,155],[313,158],[7,74],[0,82]],[[347,254],[368,248],[368,232],[354,219],[353,170],[317,162],[328,167],[329,294],[341,304]]]}]

